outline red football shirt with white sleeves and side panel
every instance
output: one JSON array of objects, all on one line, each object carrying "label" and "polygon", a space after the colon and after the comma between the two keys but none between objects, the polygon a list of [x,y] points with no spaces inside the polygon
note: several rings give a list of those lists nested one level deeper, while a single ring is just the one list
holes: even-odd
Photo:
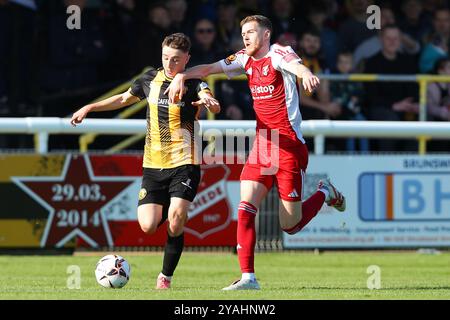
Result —
[{"label": "red football shirt with white sleeves and side panel", "polygon": [[280,146],[292,142],[305,143],[300,130],[300,92],[297,77],[286,71],[285,65],[301,59],[291,47],[270,46],[267,55],[254,59],[240,50],[220,61],[229,77],[246,74],[256,113],[256,130],[278,130]]}]

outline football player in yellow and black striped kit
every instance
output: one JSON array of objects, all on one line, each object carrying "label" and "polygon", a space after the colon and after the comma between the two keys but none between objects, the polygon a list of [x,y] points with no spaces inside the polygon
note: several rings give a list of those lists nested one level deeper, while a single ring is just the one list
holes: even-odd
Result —
[{"label": "football player in yellow and black striped kit", "polygon": [[213,113],[220,111],[218,101],[200,80],[186,82],[187,91],[181,101],[169,103],[164,94],[173,77],[185,70],[190,46],[189,38],[182,33],[167,36],[162,43],[163,68],[150,68],[127,92],[88,104],[71,119],[75,126],[89,112],[115,110],[147,99],[147,135],[137,214],[141,229],[147,234],[154,233],[159,225],[169,220],[157,289],[170,288],[183,251],[188,208],[200,182],[200,159],[195,144],[197,115],[201,107]]}]

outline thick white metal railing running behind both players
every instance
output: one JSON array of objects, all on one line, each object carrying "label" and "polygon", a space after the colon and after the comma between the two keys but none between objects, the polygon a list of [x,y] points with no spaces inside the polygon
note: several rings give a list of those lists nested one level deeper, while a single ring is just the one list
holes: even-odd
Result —
[{"label": "thick white metal railing running behind both players", "polygon": [[[204,137],[255,134],[255,121],[201,120]],[[9,134],[36,134],[36,152],[48,152],[50,134],[82,134],[101,132],[109,135],[134,135],[145,132],[144,119],[86,119],[77,127],[70,119],[62,118],[0,118],[0,132]],[[314,137],[314,153],[323,154],[326,137],[367,138],[430,138],[449,139],[450,122],[417,121],[331,121],[306,120],[301,124],[305,137]],[[86,152],[87,149],[82,149]],[[426,148],[419,148],[424,154]]]}]

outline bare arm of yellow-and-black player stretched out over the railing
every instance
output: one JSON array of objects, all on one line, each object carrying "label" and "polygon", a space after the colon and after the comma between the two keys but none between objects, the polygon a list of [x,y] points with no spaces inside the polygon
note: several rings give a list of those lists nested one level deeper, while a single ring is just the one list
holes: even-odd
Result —
[{"label": "bare arm of yellow-and-black player stretched out over the railing", "polygon": [[75,127],[77,124],[80,124],[84,118],[86,118],[89,112],[117,110],[138,101],[139,98],[133,96],[130,93],[130,90],[128,90],[127,92],[117,94],[105,100],[85,105],[73,114],[72,119],[70,119],[70,123]]}]

